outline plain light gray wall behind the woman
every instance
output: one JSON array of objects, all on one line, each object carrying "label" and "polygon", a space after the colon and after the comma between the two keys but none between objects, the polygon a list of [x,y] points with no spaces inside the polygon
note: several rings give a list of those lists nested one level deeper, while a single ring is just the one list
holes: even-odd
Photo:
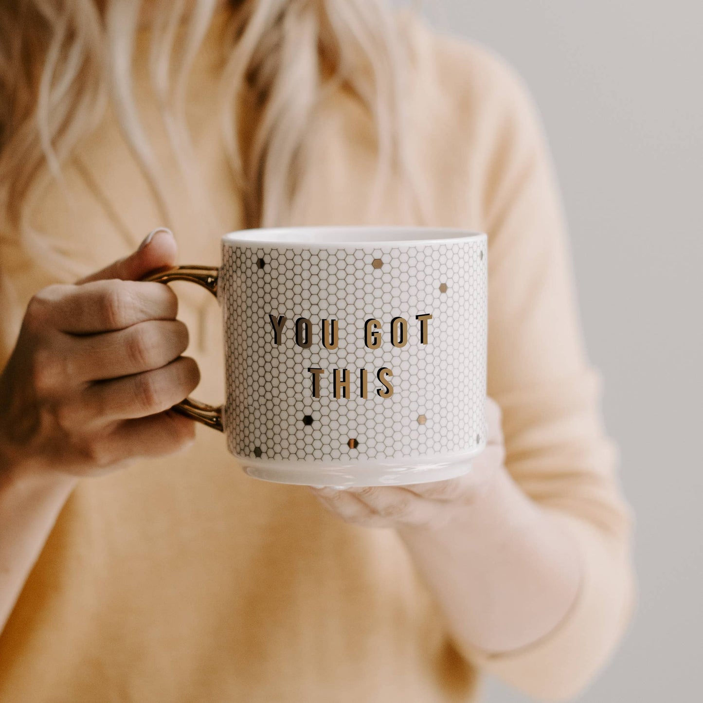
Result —
[{"label": "plain light gray wall behind the woman", "polygon": [[[508,58],[539,105],[636,511],[638,613],[579,701],[700,700],[702,5],[427,0],[425,10]],[[495,682],[486,699],[525,700]]]}]

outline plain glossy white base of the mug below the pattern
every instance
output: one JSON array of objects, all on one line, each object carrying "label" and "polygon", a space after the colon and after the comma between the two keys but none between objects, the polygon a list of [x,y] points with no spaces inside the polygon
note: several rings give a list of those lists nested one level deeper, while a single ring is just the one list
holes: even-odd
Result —
[{"label": "plain glossy white base of the mug below the pattern", "polygon": [[267,461],[238,457],[252,478],[300,486],[348,488],[350,486],[408,486],[446,481],[471,470],[473,458],[485,445],[458,456],[428,459],[389,460],[387,463],[358,462],[326,464],[307,461]]}]

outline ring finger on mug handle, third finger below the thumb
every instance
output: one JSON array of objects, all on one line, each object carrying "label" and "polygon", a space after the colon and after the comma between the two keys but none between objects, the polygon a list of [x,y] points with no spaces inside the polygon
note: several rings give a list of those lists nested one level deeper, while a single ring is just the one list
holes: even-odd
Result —
[{"label": "ring finger on mug handle, third finger below the thumb", "polygon": [[105,425],[115,420],[146,418],[180,403],[198,382],[198,364],[188,356],[180,356],[153,371],[94,383],[82,394],[77,416],[71,420],[74,424]]}]

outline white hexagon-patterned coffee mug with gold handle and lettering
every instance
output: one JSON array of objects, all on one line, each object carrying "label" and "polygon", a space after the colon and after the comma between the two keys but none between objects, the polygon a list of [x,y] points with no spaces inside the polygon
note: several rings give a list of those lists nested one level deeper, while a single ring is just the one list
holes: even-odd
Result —
[{"label": "white hexagon-patterned coffee mug with gold handle and lettering", "polygon": [[247,474],[315,486],[440,481],[486,444],[486,235],[424,227],[233,232],[222,264],[176,266],[215,295],[224,432]]}]

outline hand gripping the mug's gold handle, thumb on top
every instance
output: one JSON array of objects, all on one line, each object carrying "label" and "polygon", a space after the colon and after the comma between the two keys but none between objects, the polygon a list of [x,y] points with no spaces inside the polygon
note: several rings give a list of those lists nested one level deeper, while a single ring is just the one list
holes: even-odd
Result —
[{"label": "hand gripping the mug's gold handle, thumb on top", "polygon": [[194,439],[169,411],[198,385],[181,356],[188,330],[162,283],[138,279],[172,266],[176,243],[156,230],[126,259],[30,301],[0,375],[0,467],[10,472],[98,475]]}]

